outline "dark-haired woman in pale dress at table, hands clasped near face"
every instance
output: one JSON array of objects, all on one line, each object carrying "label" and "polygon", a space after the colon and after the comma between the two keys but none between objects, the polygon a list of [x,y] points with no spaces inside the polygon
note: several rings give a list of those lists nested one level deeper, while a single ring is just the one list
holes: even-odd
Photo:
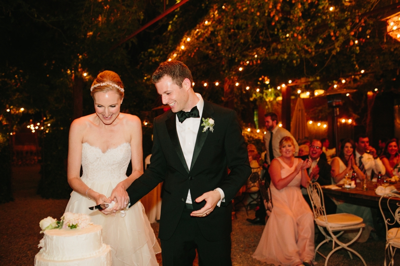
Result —
[{"label": "dark-haired woman in pale dress at table, hands clasped near face", "polygon": [[[338,157],[334,157],[330,163],[331,175],[333,178],[333,184],[343,184],[344,176],[348,174],[351,176],[352,171],[357,174],[357,178],[362,180],[365,178],[363,171],[357,166],[354,160],[354,142],[350,139],[345,139],[342,141],[340,146],[340,153]],[[363,219],[365,223],[365,228],[362,230],[361,236],[358,238],[357,242],[365,242],[369,238],[369,234],[373,229],[372,212],[370,208],[364,206],[358,206],[354,204],[344,203],[335,200],[337,204],[336,213],[350,213],[359,216]],[[358,231],[357,231],[358,232]],[[343,237],[348,236],[352,239],[355,237],[356,233],[346,233]]]}]

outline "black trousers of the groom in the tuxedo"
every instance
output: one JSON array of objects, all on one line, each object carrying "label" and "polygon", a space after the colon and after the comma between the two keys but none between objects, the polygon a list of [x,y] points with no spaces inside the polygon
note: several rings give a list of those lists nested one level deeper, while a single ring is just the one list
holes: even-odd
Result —
[{"label": "black trousers of the groom in the tuxedo", "polygon": [[191,217],[192,211],[184,209],[172,237],[161,240],[162,265],[192,266],[197,249],[199,266],[231,266],[230,235],[215,242],[205,240],[196,221],[201,218]]}]

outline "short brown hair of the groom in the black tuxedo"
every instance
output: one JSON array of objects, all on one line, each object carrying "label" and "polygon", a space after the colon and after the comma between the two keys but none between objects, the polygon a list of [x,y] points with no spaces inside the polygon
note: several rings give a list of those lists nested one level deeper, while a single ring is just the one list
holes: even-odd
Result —
[{"label": "short brown hair of the groom in the black tuxedo", "polygon": [[192,87],[193,77],[189,68],[182,62],[177,60],[162,62],[154,71],[152,76],[153,84],[158,83],[164,76],[171,77],[173,83],[182,87],[182,82],[185,78],[190,80],[190,87]]}]

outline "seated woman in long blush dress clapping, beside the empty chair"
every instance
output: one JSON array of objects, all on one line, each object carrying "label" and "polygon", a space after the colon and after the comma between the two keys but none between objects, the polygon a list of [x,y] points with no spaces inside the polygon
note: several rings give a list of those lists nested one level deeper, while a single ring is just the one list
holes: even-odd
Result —
[{"label": "seated woman in long blush dress clapping, beside the empty chair", "polygon": [[314,216],[300,190],[311,163],[294,158],[291,137],[279,141],[279,150],[269,167],[273,208],[253,258],[275,266],[312,265]]}]

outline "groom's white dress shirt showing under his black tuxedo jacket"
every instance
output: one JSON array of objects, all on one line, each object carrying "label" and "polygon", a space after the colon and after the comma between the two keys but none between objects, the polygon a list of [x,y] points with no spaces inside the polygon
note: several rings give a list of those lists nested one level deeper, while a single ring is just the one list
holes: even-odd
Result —
[{"label": "groom's white dress shirt showing under his black tuxedo jacket", "polygon": [[[196,96],[199,99],[196,106],[200,117],[197,118],[189,117],[186,118],[182,123],[180,123],[176,116],[176,132],[179,138],[180,147],[182,148],[184,160],[186,161],[186,165],[189,171],[190,171],[191,160],[193,158],[194,145],[196,143],[197,132],[198,128],[200,127],[201,115],[203,113],[203,108],[204,108],[203,98],[198,93],[196,93]],[[220,188],[216,188],[215,190],[217,190],[221,194],[221,200],[219,200],[217,203],[217,206],[219,207],[221,201],[224,201],[225,195]],[[187,193],[186,203],[192,204],[190,189]]]}]

